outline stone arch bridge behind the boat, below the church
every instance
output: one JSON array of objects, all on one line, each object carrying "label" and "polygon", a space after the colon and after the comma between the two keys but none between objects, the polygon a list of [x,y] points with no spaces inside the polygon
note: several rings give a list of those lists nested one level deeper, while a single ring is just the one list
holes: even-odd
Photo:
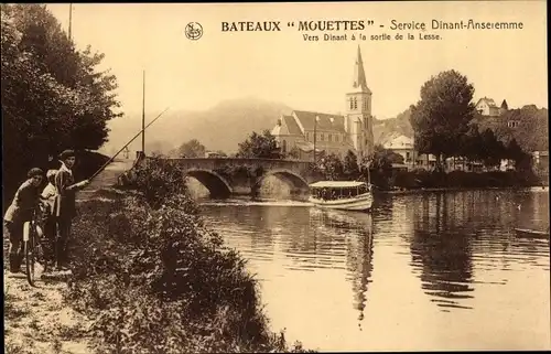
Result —
[{"label": "stone arch bridge behind the boat, below the church", "polygon": [[[149,159],[149,158],[148,158]],[[322,178],[314,173],[310,161],[271,159],[163,159],[183,168],[209,191],[212,197],[229,195],[257,196],[263,179],[274,175],[291,187],[291,195],[307,191],[307,185]]]}]

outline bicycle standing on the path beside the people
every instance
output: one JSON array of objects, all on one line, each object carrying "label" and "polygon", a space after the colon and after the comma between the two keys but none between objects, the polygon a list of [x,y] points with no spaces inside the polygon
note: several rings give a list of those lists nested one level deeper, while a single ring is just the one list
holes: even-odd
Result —
[{"label": "bicycle standing on the path beside the people", "polygon": [[43,243],[45,242],[44,232],[40,227],[40,211],[36,207],[30,222],[23,224],[23,250],[25,255],[26,280],[31,287],[35,283],[35,265],[41,265],[43,271],[47,269],[47,261],[44,253]]}]

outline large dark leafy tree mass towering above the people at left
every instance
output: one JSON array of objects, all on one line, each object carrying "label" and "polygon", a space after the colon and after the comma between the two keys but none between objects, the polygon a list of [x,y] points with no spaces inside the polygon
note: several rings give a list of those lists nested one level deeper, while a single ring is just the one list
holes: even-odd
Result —
[{"label": "large dark leafy tree mass towering above the people at left", "polygon": [[115,76],[102,54],[74,49],[43,4],[1,6],[1,89],[6,191],[63,149],[97,150],[120,117]]}]

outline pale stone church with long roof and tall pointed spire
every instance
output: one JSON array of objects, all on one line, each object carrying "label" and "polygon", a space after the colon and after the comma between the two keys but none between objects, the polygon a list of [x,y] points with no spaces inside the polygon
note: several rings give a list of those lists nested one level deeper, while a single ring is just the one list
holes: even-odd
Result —
[{"label": "pale stone church with long roof and tall pointed spire", "polygon": [[325,151],[344,158],[348,150],[367,157],[374,150],[371,90],[367,87],[361,51],[358,45],[350,89],[345,93],[346,114],[293,110],[282,115],[272,129],[281,152],[298,151],[300,160],[313,160]]}]

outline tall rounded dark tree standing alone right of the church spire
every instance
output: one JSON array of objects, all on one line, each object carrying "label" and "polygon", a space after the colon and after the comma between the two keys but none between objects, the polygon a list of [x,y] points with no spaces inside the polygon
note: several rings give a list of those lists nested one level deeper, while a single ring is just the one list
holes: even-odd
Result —
[{"label": "tall rounded dark tree standing alone right of the church spire", "polygon": [[440,170],[446,157],[461,153],[461,137],[475,114],[473,93],[466,76],[446,71],[421,87],[421,99],[411,107],[415,148],[421,153],[434,154]]}]

